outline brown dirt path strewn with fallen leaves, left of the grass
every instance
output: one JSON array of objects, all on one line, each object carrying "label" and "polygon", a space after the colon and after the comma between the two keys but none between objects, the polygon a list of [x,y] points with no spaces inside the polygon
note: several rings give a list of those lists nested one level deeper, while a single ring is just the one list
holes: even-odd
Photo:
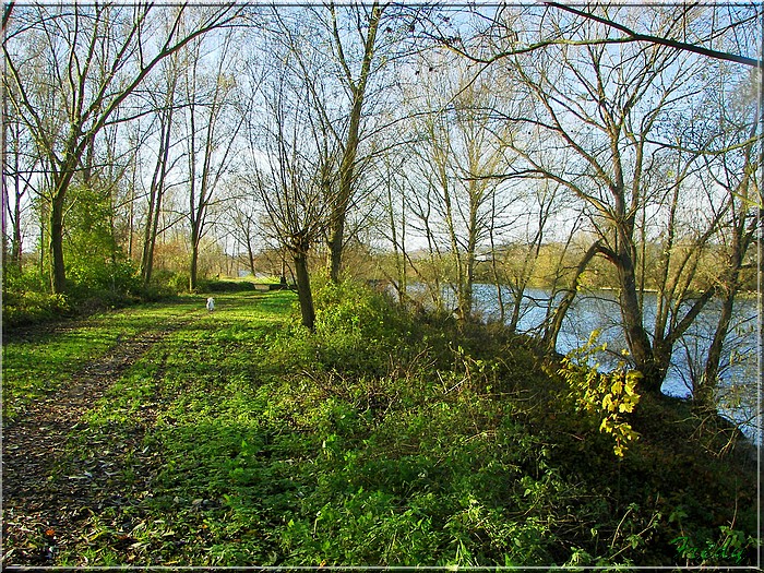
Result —
[{"label": "brown dirt path strewn with fallen leaves, left of the grass", "polygon": [[[141,490],[159,464],[156,453],[139,445],[156,413],[142,409],[131,435],[115,443],[94,443],[83,459],[61,459],[71,433],[86,429],[82,416],[122,373],[154,344],[200,318],[199,311],[179,314],[160,329],[120,341],[105,356],[87,362],[70,384],[29,405],[20,419],[2,429],[2,563],[55,565],[56,554],[83,533],[83,522],[105,508],[121,508],[126,499],[120,479],[126,454],[142,473],[128,491]],[[115,487],[117,486],[117,487]],[[144,488],[145,489],[145,488]],[[81,537],[80,537],[81,538]]]}]

